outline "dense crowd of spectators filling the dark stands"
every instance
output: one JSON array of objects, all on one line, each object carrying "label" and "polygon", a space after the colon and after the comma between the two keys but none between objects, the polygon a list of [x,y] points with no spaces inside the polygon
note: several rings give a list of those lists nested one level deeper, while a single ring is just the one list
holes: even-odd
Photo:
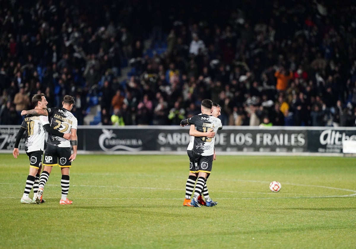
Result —
[{"label": "dense crowd of spectators filling the dark stands", "polygon": [[179,125],[211,99],[223,125],[355,126],[355,3],[1,5],[0,124],[44,92],[78,124],[99,104],[104,125]]}]

